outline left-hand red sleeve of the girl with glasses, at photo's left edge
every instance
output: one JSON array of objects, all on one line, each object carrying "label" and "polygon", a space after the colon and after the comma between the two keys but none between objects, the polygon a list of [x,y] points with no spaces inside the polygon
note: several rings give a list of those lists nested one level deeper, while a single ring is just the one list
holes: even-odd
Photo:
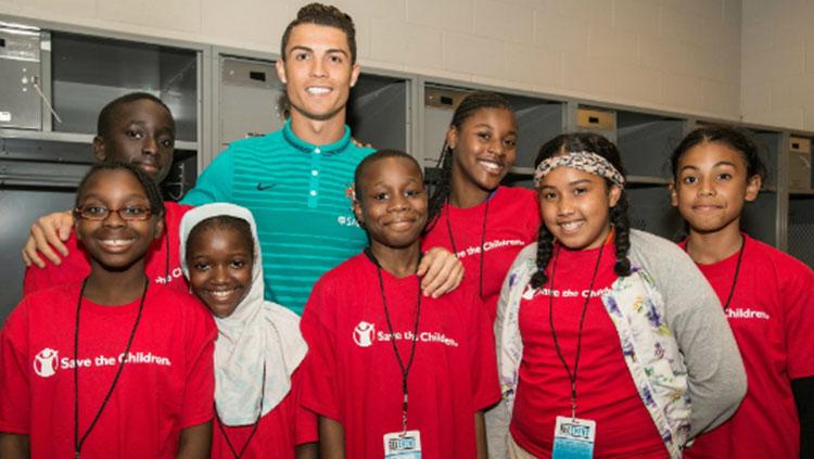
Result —
[{"label": "left-hand red sleeve of the girl with glasses, at photo's left edge", "polygon": [[30,432],[30,388],[26,299],[0,330],[0,432]]}]

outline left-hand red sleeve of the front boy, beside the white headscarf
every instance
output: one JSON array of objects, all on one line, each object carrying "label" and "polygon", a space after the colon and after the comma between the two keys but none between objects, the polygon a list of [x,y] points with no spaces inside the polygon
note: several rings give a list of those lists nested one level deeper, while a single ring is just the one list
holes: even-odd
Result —
[{"label": "left-hand red sleeve of the front boy, beside the white headscarf", "polygon": [[308,354],[303,361],[305,371],[302,404],[317,415],[341,422],[335,332],[326,323],[326,309],[334,304],[327,301],[329,296],[325,291],[325,284],[317,282],[300,321],[300,330],[308,343]]}]

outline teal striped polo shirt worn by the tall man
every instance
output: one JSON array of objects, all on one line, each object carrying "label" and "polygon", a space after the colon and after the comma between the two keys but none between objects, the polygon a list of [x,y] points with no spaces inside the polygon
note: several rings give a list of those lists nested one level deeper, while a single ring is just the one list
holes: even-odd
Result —
[{"label": "teal striped polo shirt worn by the tall man", "polygon": [[229,202],[252,211],[266,299],[302,314],[314,283],[367,244],[351,209],[356,166],[372,149],[351,141],[314,145],[291,131],[232,142],[181,201]]}]

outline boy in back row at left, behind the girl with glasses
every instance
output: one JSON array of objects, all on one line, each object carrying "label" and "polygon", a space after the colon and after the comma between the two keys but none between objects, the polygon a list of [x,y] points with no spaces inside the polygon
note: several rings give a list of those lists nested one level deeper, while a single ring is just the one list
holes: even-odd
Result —
[{"label": "boy in back row at left, behind the girl with glasses", "polygon": [[[169,173],[175,145],[175,120],[164,102],[147,92],[132,92],[116,98],[99,113],[93,155],[100,162],[131,163],[156,183]],[[190,206],[164,203],[164,233],[150,246],[145,271],[156,284],[187,292],[178,257],[178,224]],[[76,282],[90,273],[88,254],[71,233],[73,214],[56,213],[42,217],[31,227],[31,235],[23,259],[25,272],[23,294],[54,285]],[[50,231],[43,231],[49,228]],[[35,250],[39,243],[42,254]],[[62,259],[60,259],[60,255]],[[41,259],[40,255],[42,256]],[[31,266],[31,264],[36,266]]]}]

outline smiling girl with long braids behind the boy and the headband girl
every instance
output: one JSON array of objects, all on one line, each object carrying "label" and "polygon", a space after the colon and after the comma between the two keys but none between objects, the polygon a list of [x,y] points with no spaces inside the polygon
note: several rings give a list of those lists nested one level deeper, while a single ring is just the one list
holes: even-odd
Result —
[{"label": "smiling girl with long braids behind the boy and the headband girl", "polygon": [[438,160],[421,244],[458,256],[463,282],[480,294],[489,323],[506,271],[539,228],[534,190],[500,186],[514,165],[517,140],[514,112],[503,95],[478,91],[461,101]]}]

